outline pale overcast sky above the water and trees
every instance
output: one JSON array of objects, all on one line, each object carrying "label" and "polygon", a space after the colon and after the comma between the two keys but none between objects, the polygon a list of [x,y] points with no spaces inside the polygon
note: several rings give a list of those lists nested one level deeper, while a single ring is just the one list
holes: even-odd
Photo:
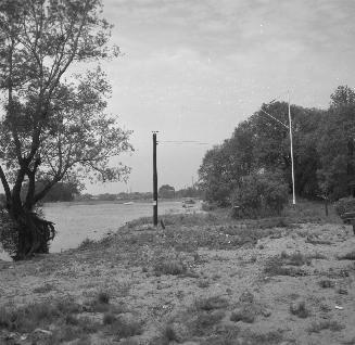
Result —
[{"label": "pale overcast sky above the water and trees", "polygon": [[[198,180],[208,149],[272,99],[326,108],[339,85],[355,87],[354,0],[102,0],[122,55],[102,66],[109,112],[132,130],[127,183],[89,193],[152,191]],[[180,141],[173,143],[168,141]],[[181,142],[194,141],[194,142]]]}]

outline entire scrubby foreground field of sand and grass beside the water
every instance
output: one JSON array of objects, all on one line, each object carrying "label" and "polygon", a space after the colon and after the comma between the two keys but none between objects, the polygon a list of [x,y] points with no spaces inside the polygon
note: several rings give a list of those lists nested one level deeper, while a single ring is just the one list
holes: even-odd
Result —
[{"label": "entire scrubby foreground field of sand and grass beside the water", "polygon": [[141,219],[1,263],[0,344],[355,344],[355,237],[322,213]]}]

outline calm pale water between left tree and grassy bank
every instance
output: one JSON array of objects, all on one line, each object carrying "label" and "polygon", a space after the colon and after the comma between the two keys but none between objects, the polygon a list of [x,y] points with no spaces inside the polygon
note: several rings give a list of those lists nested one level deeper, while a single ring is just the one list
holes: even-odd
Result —
[{"label": "calm pale water between left tree and grassy bank", "polygon": [[[192,209],[198,209],[200,204]],[[115,232],[127,221],[153,216],[149,202],[122,203],[48,203],[42,207],[45,217],[55,223],[58,231],[50,252],[58,253],[77,247],[85,239],[99,240],[107,232]],[[190,209],[191,210],[191,209]],[[164,201],[159,203],[159,215],[185,213],[182,203]],[[9,259],[0,251],[0,259]]]}]

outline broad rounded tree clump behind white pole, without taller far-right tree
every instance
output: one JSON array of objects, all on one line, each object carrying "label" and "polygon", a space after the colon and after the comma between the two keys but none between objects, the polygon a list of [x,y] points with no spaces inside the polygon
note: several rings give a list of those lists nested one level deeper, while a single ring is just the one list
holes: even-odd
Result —
[{"label": "broad rounded tree clump behind white pole, without taller far-right tree", "polygon": [[[253,171],[282,171],[291,190],[288,104],[263,104],[262,110],[239,124],[230,139],[205,154],[200,180],[207,200],[226,203],[232,190],[240,188],[243,178]],[[324,112],[292,105],[291,114],[296,193],[316,196],[319,167],[316,130]]]}]

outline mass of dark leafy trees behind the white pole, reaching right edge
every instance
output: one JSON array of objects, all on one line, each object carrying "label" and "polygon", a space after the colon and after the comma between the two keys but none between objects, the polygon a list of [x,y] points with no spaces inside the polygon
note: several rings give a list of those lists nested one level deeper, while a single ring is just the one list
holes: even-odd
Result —
[{"label": "mass of dark leafy trees behind the white pole, reaching right edge", "polygon": [[[262,110],[289,125],[288,103],[263,104]],[[338,200],[354,193],[354,90],[340,86],[328,110],[291,105],[291,114],[296,194]],[[281,173],[292,191],[289,129],[277,120],[258,111],[206,152],[199,169],[206,200],[229,204],[246,176],[265,171]]]}]

